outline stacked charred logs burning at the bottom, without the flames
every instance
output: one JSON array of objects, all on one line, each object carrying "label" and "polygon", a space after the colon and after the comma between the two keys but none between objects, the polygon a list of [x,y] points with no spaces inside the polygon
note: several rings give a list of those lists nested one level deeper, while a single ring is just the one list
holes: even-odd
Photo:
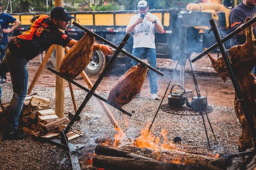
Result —
[{"label": "stacked charred logs burning at the bottom, without the flames", "polygon": [[199,151],[188,145],[182,146],[183,151],[166,148],[153,150],[135,146],[112,148],[106,145],[97,145],[93,166],[110,170],[221,170],[226,169],[232,163],[232,160],[224,156],[220,158],[211,156],[212,150],[196,148]]}]

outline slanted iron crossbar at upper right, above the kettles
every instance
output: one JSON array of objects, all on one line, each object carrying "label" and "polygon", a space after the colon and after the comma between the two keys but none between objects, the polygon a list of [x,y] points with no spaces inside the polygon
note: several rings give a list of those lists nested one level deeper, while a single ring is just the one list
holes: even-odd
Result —
[{"label": "slanted iron crossbar at upper right, above the kettles", "polygon": [[[222,43],[226,42],[227,40],[229,40],[230,38],[232,38],[233,36],[237,35],[238,33],[240,33],[242,30],[245,30],[245,28],[247,28],[248,26],[252,25],[253,23],[256,22],[256,17],[252,18],[251,20],[249,20],[248,22],[246,22],[245,24],[241,25],[240,28],[234,30],[233,32],[229,33],[229,35],[225,36],[223,39],[220,39],[220,41]],[[199,55],[197,55],[196,57],[194,57],[191,61],[192,63],[201,59],[204,55],[207,55],[207,53],[211,52],[213,49],[218,47],[218,42],[213,44],[212,46],[210,46],[207,50],[203,51],[202,53],[200,53]]]}]

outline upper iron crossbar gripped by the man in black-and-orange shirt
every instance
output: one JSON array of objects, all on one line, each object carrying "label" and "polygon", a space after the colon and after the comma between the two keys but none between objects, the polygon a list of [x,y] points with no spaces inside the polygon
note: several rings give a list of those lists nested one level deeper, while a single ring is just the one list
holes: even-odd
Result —
[{"label": "upper iron crossbar gripped by the man in black-and-orange shirt", "polygon": [[[93,36],[95,36],[96,38],[98,38],[99,40],[103,41],[104,43],[106,43],[107,45],[110,45],[112,46],[113,48],[117,49],[118,46],[117,45],[114,45],[112,42],[102,38],[100,35],[97,35],[96,33],[92,32],[91,30],[87,29],[86,27],[78,24],[77,22],[73,22],[72,23],[73,25],[77,26],[78,28],[80,28],[81,30],[84,30],[85,32],[89,33],[89,34],[92,34]],[[129,34],[127,34],[129,35]],[[150,70],[154,71],[155,73],[163,76],[164,73],[162,73],[161,71],[155,69],[154,67],[152,67],[151,65],[148,65],[146,64],[144,61],[140,60],[139,58],[135,57],[134,55],[131,55],[130,53],[128,53],[127,51],[125,50],[120,50],[120,52],[122,52],[123,54],[127,55],[128,57],[132,58],[133,60],[137,61],[138,63],[144,65],[145,67],[149,68]],[[119,53],[118,53],[119,54]]]}]

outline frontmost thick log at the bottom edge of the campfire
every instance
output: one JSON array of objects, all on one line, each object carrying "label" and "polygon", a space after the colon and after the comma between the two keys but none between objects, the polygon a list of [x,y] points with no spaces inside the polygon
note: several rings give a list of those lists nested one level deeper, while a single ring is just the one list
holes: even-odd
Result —
[{"label": "frontmost thick log at the bottom edge of the campfire", "polygon": [[92,165],[110,170],[198,170],[181,164],[165,163],[156,160],[138,160],[123,157],[98,155],[92,159]]}]

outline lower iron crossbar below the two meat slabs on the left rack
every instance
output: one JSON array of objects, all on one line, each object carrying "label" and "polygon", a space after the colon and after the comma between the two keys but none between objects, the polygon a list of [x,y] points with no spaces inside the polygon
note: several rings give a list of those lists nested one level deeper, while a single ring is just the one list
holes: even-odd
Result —
[{"label": "lower iron crossbar below the two meat slabs on the left rack", "polygon": [[[90,91],[90,89],[87,89],[85,86],[80,85],[80,84],[77,83],[76,81],[69,79],[68,77],[66,77],[65,75],[61,74],[61,73],[60,73],[59,71],[57,71],[57,70],[55,70],[55,69],[53,69],[53,68],[51,68],[51,67],[48,67],[48,70],[52,71],[52,72],[53,72],[54,74],[56,74],[56,75],[59,75],[61,78],[63,78],[63,79],[65,79],[65,80],[69,81],[70,83],[72,83],[73,85],[76,85],[77,87],[79,87],[79,88],[82,89],[82,90],[85,90],[86,92],[89,92],[89,91]],[[101,97],[100,95],[98,95],[98,94],[96,94],[96,93],[93,93],[93,95],[94,95],[96,98],[98,98],[98,99],[104,101],[104,102],[107,103],[108,105],[113,106],[113,107],[116,108],[117,110],[122,111],[124,114],[126,114],[126,115],[128,115],[128,116],[132,116],[131,113],[129,113],[129,112],[126,111],[126,110],[123,110],[122,107],[120,107],[120,106],[118,106],[118,105],[112,103],[111,101],[109,101],[109,100],[107,100],[107,99]]]}]

